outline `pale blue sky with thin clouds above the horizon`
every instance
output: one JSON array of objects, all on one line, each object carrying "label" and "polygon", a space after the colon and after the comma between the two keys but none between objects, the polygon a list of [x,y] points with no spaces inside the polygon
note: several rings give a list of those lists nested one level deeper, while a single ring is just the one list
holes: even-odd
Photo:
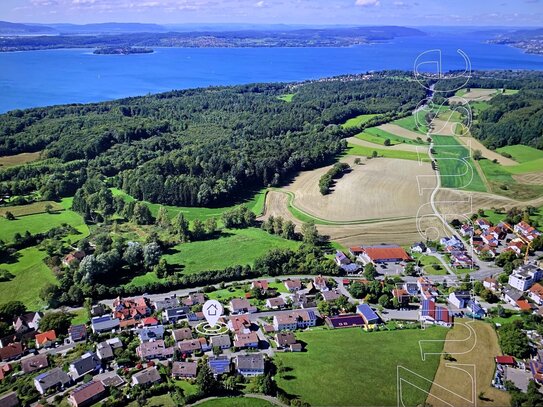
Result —
[{"label": "pale blue sky with thin clouds above the horizon", "polygon": [[543,0],[0,0],[0,20],[543,26]]}]

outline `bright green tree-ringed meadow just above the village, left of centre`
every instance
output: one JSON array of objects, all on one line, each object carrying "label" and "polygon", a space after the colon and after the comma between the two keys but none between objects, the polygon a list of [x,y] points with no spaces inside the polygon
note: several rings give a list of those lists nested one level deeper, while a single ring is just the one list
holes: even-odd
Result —
[{"label": "bright green tree-ringed meadow just above the village, left of centre", "polygon": [[214,240],[182,243],[164,256],[169,264],[184,266],[185,274],[249,265],[274,248],[296,249],[299,242],[285,240],[257,228],[226,229]]}]

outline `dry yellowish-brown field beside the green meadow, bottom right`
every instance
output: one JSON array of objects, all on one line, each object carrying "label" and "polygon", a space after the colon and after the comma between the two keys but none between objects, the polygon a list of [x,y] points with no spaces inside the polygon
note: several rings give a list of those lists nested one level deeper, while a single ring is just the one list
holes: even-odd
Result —
[{"label": "dry yellowish-brown field beside the green meadow, bottom right", "polygon": [[[468,328],[468,326],[471,328]],[[471,332],[470,332],[471,331]],[[443,406],[443,402],[449,405],[478,405],[478,406],[508,406],[509,394],[491,386],[494,376],[494,357],[501,355],[498,345],[498,338],[492,326],[486,322],[469,321],[467,319],[457,319],[455,326],[447,334],[444,352],[449,353],[456,359],[454,362],[446,361],[441,358],[441,363],[435,375],[434,384],[430,390],[430,396],[427,402],[434,406]],[[451,367],[447,367],[451,364]],[[457,368],[454,366],[457,365]],[[441,385],[456,394],[467,398],[472,398],[471,379],[467,372],[473,374],[473,368],[461,365],[476,366],[476,390],[473,392],[475,397],[481,392],[484,393],[486,400],[477,399],[475,403],[460,402],[460,398],[453,397],[446,392]],[[459,404],[460,403],[460,404]]]}]

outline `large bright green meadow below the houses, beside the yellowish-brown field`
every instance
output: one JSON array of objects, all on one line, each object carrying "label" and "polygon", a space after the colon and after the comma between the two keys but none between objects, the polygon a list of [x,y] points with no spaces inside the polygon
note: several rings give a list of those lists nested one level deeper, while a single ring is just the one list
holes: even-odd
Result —
[{"label": "large bright green meadow below the houses, beside the yellowish-brown field", "polygon": [[[306,343],[307,352],[277,354],[288,371],[276,380],[287,393],[312,406],[393,406],[397,404],[397,366],[432,380],[439,358],[422,361],[419,340],[441,340],[447,332],[438,327],[372,333],[356,328],[300,332],[296,337]],[[442,346],[434,342],[432,351],[440,352]],[[426,382],[420,386],[430,387]],[[406,405],[425,399],[413,388],[403,394]]]}]

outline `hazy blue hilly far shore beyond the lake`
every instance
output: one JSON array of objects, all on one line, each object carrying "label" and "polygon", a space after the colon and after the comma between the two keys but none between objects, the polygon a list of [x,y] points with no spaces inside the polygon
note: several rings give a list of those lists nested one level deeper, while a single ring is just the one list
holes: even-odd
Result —
[{"label": "hazy blue hilly far shore beyond the lake", "polygon": [[[0,51],[55,48],[128,47],[346,47],[422,36],[415,28],[399,26],[267,29],[251,25],[224,31],[170,31],[157,24],[51,24],[28,25],[0,22]],[[253,29],[249,29],[253,27]],[[173,27],[172,27],[173,28]]]}]

